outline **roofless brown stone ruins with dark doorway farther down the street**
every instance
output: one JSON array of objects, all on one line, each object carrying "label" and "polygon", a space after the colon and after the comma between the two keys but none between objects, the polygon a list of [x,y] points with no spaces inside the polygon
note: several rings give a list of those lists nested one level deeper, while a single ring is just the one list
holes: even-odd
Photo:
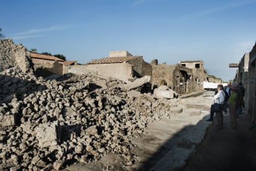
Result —
[{"label": "roofless brown stone ruins with dark doorway farther down the street", "polygon": [[182,60],[176,65],[158,64],[152,60],[152,85],[160,86],[166,83],[176,93],[189,93],[202,90],[205,80],[202,60]]}]

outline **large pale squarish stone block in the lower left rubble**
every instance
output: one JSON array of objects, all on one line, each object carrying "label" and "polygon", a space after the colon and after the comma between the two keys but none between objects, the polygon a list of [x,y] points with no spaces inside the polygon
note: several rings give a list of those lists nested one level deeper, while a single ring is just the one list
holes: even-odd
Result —
[{"label": "large pale squarish stone block in the lower left rubble", "polygon": [[61,128],[58,121],[53,123],[41,123],[36,129],[38,146],[41,148],[56,146],[61,140]]}]

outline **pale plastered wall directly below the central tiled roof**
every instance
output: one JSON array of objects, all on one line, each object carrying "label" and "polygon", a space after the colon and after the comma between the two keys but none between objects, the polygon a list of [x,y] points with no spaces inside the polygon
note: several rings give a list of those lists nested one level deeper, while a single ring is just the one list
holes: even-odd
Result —
[{"label": "pale plastered wall directly below the central tiled roof", "polygon": [[104,77],[114,77],[122,81],[128,81],[133,75],[132,65],[127,63],[72,65],[69,72],[75,74],[93,72]]}]

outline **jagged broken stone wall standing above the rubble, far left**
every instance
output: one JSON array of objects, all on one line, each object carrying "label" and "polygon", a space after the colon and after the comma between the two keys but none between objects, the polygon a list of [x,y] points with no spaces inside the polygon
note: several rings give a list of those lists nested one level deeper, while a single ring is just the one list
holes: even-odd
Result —
[{"label": "jagged broken stone wall standing above the rubble, far left", "polygon": [[22,44],[15,44],[12,39],[0,40],[0,72],[11,67],[19,67],[22,72],[28,72],[30,62],[26,52]]}]

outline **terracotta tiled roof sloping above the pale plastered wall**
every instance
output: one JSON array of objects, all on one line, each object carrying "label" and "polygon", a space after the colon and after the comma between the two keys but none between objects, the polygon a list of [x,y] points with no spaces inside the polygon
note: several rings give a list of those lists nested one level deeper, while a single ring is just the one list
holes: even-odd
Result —
[{"label": "terracotta tiled roof sloping above the pale plastered wall", "polygon": [[127,62],[132,59],[137,59],[142,56],[127,56],[127,57],[105,57],[103,59],[93,59],[87,64],[113,64]]}]

